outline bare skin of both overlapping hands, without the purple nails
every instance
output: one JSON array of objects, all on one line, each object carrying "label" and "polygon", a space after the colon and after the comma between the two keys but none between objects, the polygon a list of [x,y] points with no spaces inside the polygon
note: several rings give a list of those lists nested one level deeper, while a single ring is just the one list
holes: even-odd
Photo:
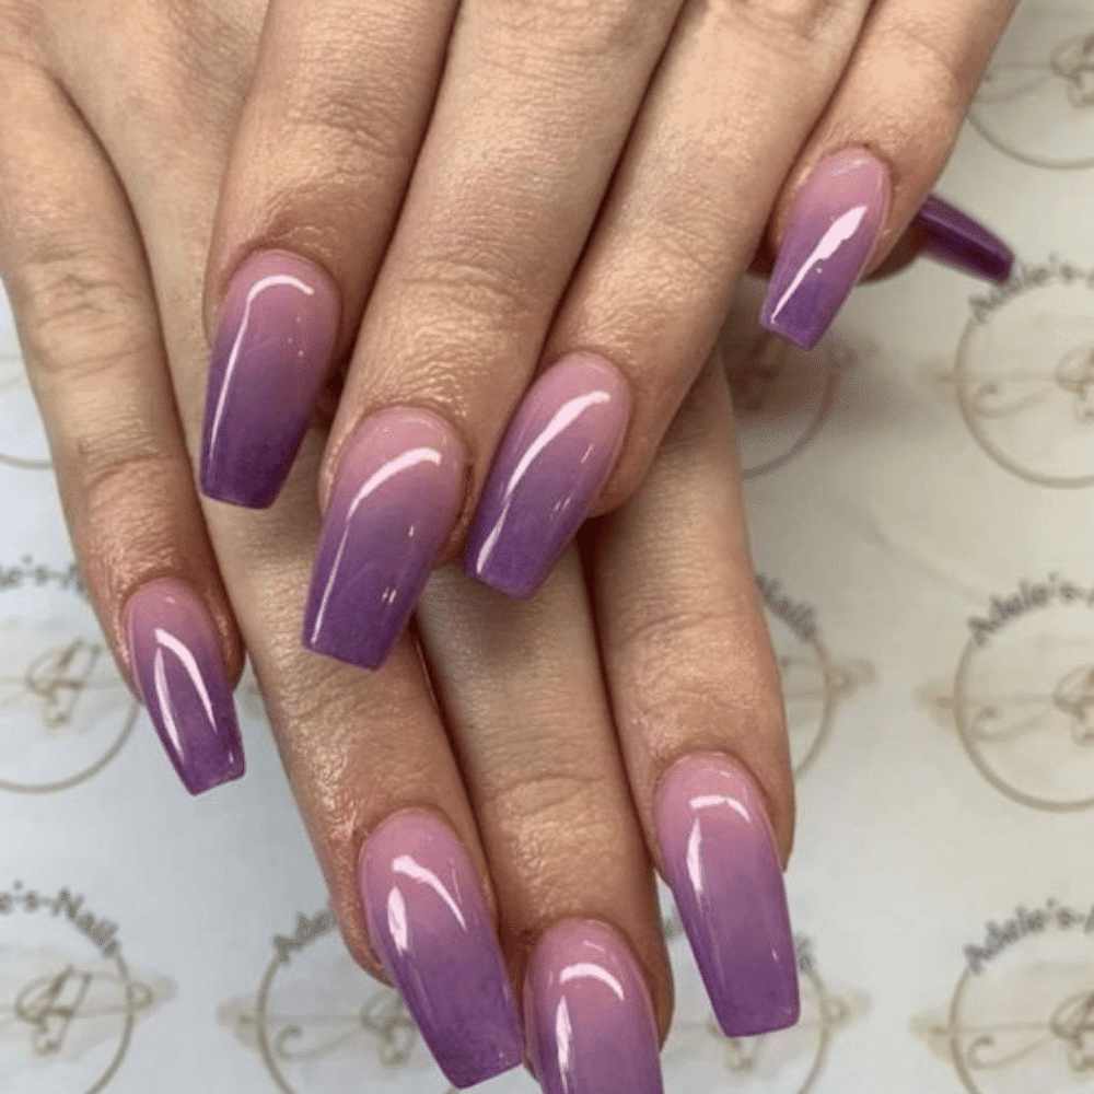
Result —
[{"label": "bare skin of both overlapping hands, without the purple nails", "polygon": [[[702,13],[718,4],[688,4],[676,20],[678,5],[661,3],[649,23],[626,18],[622,3],[605,5],[612,21],[603,25],[568,16],[568,37],[551,37],[556,53],[532,70],[561,80],[570,97],[558,105],[575,118],[604,118],[591,135],[596,148],[572,144],[563,155],[545,147],[557,119],[537,110],[550,96],[538,94],[542,85],[523,97],[498,85],[507,103],[523,104],[491,130],[507,135],[515,155],[491,160],[500,175],[484,173],[475,149],[485,137],[458,119],[482,116],[463,106],[489,84],[476,84],[476,72],[490,50],[534,51],[543,37],[535,9],[499,5],[503,22],[494,24],[486,5],[468,4],[442,26],[412,24],[400,5],[405,25],[384,23],[399,54],[391,34],[369,25],[384,20],[385,5],[351,7],[359,22],[337,5],[304,19],[309,5],[281,3],[264,32],[259,0],[0,2],[0,274],[75,550],[131,683],[126,606],[154,580],[184,583],[202,605],[229,680],[247,651],[342,933],[365,968],[384,975],[359,882],[362,848],[393,815],[423,810],[466,850],[515,998],[546,931],[607,923],[637,962],[663,1035],[672,986],[651,871],[670,872],[654,807],[663,776],[694,754],[724,756],[755,780],[779,864],[793,830],[778,672],[725,443],[729,394],[708,369],[685,395],[768,212],[773,252],[796,187],[831,147],[866,143],[893,165],[897,186],[874,261],[889,254],[941,170],[1010,4],[969,0],[943,16],[932,5],[924,26],[912,0],[893,0],[874,5],[864,26],[864,3],[772,0],[773,18],[749,15],[752,37],[736,47],[766,56],[765,77],[785,93],[813,63],[806,43],[815,38],[824,79],[793,108],[775,92],[770,104],[758,102],[757,73],[724,56],[719,63],[743,85],[699,79],[713,71]],[[904,13],[903,36],[885,30],[884,11]],[[441,86],[437,66],[453,26],[454,75]],[[920,30],[941,51],[907,48]],[[651,50],[670,32],[656,94],[628,142]],[[318,35],[311,49],[310,34]],[[363,63],[352,51],[362,40],[399,63],[376,55]],[[597,49],[630,66],[613,86],[592,74],[610,66],[581,60]],[[405,63],[406,50],[419,50],[420,63]],[[900,79],[878,81],[894,50]],[[299,62],[315,56],[325,63]],[[348,71],[372,73],[375,86],[349,86],[347,100],[346,88],[324,83],[324,72]],[[406,72],[414,79],[396,88]],[[282,110],[277,86],[314,94]],[[878,102],[863,88],[892,93]],[[348,119],[336,109],[345,102],[354,106]],[[366,109],[384,102],[401,113]],[[316,104],[325,117],[311,110]],[[676,127],[697,104],[719,140],[689,143]],[[276,132],[278,117],[299,125]],[[790,119],[789,137],[778,118]],[[767,146],[757,135],[785,147],[763,170]],[[309,140],[307,155],[293,152],[293,141]],[[694,183],[688,161],[702,168]],[[289,177],[291,165],[305,175]],[[735,195],[718,217],[703,174]],[[624,188],[597,220],[612,177]],[[500,195],[509,205],[498,206]],[[559,219],[560,203],[572,217]],[[473,231],[500,223],[531,235]],[[565,246],[526,246],[542,236]],[[243,258],[267,246],[321,264],[341,300],[335,372],[314,428],[277,501],[255,513],[200,498],[195,463],[220,302]],[[497,268],[494,258],[512,261]],[[663,321],[666,284],[695,292],[674,292],[678,315],[651,333],[642,316]],[[375,322],[361,327],[366,298]],[[410,346],[411,330],[433,339]],[[538,594],[515,603],[442,566],[416,628],[374,674],[305,650],[316,482],[325,504],[361,422],[409,403],[463,438],[468,488],[441,561],[457,558],[509,414],[537,365],[574,348],[607,353],[635,399],[622,455],[592,509],[610,512],[581,534],[584,567],[573,549],[563,552]],[[667,361],[678,368],[665,372]],[[387,747],[396,736],[400,747]]]}]

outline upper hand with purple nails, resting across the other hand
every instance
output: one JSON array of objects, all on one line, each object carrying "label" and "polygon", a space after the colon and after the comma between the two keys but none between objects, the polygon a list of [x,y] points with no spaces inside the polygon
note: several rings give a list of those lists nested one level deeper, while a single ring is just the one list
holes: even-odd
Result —
[{"label": "upper hand with purple nails, resting across the other hand", "polygon": [[306,644],[375,667],[461,550],[534,592],[642,480],[767,225],[763,317],[803,345],[920,211],[927,249],[1005,280],[928,191],[1014,2],[274,0],[210,257],[201,485],[268,504],[345,374]]}]

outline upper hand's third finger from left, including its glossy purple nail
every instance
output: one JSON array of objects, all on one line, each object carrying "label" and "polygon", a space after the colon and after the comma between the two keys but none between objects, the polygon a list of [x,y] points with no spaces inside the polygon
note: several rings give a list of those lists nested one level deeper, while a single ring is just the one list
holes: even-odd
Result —
[{"label": "upper hand's third finger from left, including its glossy purple nail", "polygon": [[589,512],[641,481],[868,5],[685,5],[558,310],[549,368],[493,461],[467,542],[476,577],[526,595]]}]

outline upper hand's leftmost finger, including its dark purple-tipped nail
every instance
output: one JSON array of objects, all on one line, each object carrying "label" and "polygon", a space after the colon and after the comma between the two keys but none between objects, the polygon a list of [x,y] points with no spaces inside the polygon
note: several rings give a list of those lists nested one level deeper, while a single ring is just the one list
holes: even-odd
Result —
[{"label": "upper hand's leftmost finger, including its dark purple-tipped nail", "polygon": [[[207,278],[201,489],[263,508],[349,350],[418,153],[455,0],[274,0]],[[271,400],[271,387],[278,398]]]}]

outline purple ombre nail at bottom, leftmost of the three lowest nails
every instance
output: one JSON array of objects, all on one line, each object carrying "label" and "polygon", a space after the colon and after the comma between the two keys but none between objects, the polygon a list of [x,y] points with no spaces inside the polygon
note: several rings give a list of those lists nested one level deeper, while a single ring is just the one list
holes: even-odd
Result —
[{"label": "purple ombre nail at bottom, leftmost of the three lowest nails", "polygon": [[467,851],[440,821],[397,813],[361,849],[372,943],[454,1086],[524,1061],[516,1000]]}]

